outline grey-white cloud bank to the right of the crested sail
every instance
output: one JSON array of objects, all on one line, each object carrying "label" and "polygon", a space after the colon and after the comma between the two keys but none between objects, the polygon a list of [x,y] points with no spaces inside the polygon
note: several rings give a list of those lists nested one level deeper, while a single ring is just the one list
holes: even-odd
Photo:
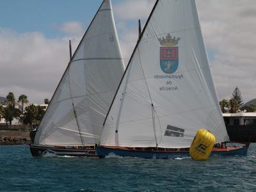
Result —
[{"label": "grey-white cloud bank to the right of the crested sail", "polygon": [[214,50],[212,72],[220,99],[239,86],[245,101],[256,98],[256,1],[198,1],[202,32]]}]

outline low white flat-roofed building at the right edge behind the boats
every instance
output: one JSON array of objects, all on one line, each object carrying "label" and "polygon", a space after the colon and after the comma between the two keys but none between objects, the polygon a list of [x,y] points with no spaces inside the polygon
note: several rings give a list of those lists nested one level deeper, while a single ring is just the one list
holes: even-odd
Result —
[{"label": "low white flat-roofed building at the right edge behind the boats", "polygon": [[256,112],[222,113],[226,125],[256,125]]}]

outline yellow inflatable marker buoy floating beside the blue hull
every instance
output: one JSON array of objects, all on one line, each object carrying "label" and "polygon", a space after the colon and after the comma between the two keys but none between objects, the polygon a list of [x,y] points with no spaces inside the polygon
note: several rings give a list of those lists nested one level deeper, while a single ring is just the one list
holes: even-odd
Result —
[{"label": "yellow inflatable marker buoy floating beside the blue hull", "polygon": [[189,148],[189,154],[194,160],[208,159],[215,143],[214,135],[205,130],[199,129]]}]

